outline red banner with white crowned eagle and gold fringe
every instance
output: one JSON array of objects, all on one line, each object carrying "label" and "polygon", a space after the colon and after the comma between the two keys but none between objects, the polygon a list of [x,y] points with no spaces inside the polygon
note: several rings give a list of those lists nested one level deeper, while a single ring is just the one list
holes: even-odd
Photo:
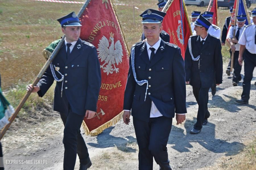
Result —
[{"label": "red banner with white crowned eagle and gold fringe", "polygon": [[122,117],[129,55],[111,0],[92,0],[80,17],[80,38],[92,43],[98,53],[101,87],[94,118],[84,118],[86,134],[97,135]]}]

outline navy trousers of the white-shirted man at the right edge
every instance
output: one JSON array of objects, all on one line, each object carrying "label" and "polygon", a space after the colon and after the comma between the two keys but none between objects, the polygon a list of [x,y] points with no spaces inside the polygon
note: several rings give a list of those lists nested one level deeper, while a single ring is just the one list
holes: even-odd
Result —
[{"label": "navy trousers of the white-shirted man at the right edge", "polygon": [[251,54],[248,50],[245,50],[244,59],[245,76],[243,82],[243,93],[241,97],[245,102],[248,102],[250,98],[252,74],[254,68],[256,67],[256,54]]}]

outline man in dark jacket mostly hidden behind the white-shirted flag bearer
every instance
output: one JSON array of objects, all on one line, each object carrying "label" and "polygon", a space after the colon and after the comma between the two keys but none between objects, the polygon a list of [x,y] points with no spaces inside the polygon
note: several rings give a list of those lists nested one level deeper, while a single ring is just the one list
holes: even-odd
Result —
[{"label": "man in dark jacket mostly hidden behind the white-shirted flag bearer", "polygon": [[[229,8],[230,15],[232,15],[233,8],[234,8],[234,6]],[[226,38],[227,38],[227,29],[229,27],[230,19],[231,19],[231,16],[226,17],[226,19],[225,19],[225,23],[223,25],[222,35],[221,35],[221,45],[225,45]],[[228,62],[228,65],[227,65],[227,69],[226,69],[226,74],[228,76],[230,76],[230,66],[231,66],[231,59],[229,59],[229,62]]]}]

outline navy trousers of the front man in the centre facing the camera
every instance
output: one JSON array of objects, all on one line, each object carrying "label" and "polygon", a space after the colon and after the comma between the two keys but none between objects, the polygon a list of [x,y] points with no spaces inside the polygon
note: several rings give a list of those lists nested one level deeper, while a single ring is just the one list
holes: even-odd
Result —
[{"label": "navy trousers of the front man in the centre facing the camera", "polygon": [[172,128],[172,118],[160,116],[144,122],[133,118],[139,145],[139,170],[153,170],[153,157],[161,170],[171,170],[167,142]]}]

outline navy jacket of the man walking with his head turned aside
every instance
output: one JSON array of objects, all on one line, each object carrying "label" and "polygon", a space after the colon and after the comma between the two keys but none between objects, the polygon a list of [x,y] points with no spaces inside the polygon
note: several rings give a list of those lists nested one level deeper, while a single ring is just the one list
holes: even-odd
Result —
[{"label": "navy jacket of the man walking with his head turned aside", "polygon": [[200,36],[191,36],[191,47],[194,58],[200,55],[198,61],[194,61],[187,46],[185,53],[186,81],[197,88],[210,88],[213,84],[214,72],[216,72],[216,84],[222,83],[222,54],[221,42],[218,38],[208,34],[201,48]]}]

